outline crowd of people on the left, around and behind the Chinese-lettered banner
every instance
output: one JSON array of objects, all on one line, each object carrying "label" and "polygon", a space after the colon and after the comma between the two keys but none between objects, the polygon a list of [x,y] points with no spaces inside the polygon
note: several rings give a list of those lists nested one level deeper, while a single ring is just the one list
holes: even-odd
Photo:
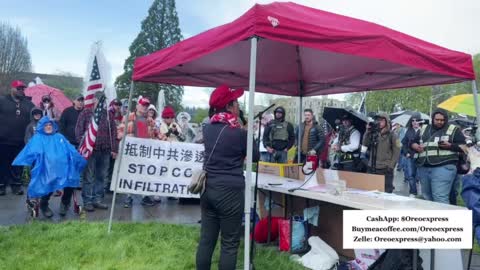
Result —
[{"label": "crowd of people on the left, around and behind the Chinese-lettered banner", "polygon": [[[8,186],[11,187],[12,194],[24,194],[22,183],[24,171],[23,166],[20,165],[32,167],[30,170],[30,178],[32,179],[37,177],[40,170],[46,171],[45,166],[54,165],[51,157],[48,161],[49,164],[43,164],[47,162],[46,158],[43,161],[39,160],[38,157],[35,160],[31,158],[28,161],[25,160],[24,157],[31,150],[31,145],[36,145],[36,143],[31,142],[36,134],[39,134],[37,137],[40,137],[41,134],[58,133],[58,135],[61,135],[61,137],[57,137],[58,142],[68,141],[68,144],[72,146],[71,149],[78,149],[94,116],[95,108],[103,95],[102,92],[96,92],[93,98],[93,106],[88,108],[84,106],[84,96],[78,95],[72,100],[71,107],[60,112],[56,109],[52,97],[48,95],[41,98],[40,104],[33,104],[31,97],[25,96],[25,88],[26,85],[23,82],[14,81],[11,84],[10,93],[0,97],[0,119],[5,123],[5,126],[0,128],[0,151],[3,153],[0,158],[0,196],[6,195]],[[76,166],[75,170],[79,170],[77,182],[70,182],[69,186],[59,185],[61,190],[48,192],[38,198],[40,200],[40,212],[45,217],[53,216],[53,211],[48,205],[48,199],[52,195],[50,193],[62,196],[59,214],[66,215],[71,205],[74,187],[81,188],[83,208],[86,211],[108,209],[104,197],[106,192],[110,192],[113,166],[118,154],[119,142],[123,136],[164,141],[201,142],[201,138],[197,137],[196,132],[189,124],[190,116],[187,113],[179,114],[179,123],[177,123],[175,121],[176,113],[172,107],[166,106],[159,114],[155,106],[150,104],[148,98],[140,96],[136,101],[135,108],[127,116],[127,103],[125,100],[122,102],[114,99],[110,102],[108,108],[103,110],[97,127],[95,146],[84,166],[85,168],[72,164],[73,167]],[[51,132],[45,133],[45,126],[48,126],[49,130],[52,126]],[[27,151],[27,149],[30,150]],[[35,146],[35,149],[35,151],[39,151],[39,146]],[[43,151],[46,153],[61,152],[52,151],[52,149],[45,148]],[[65,155],[68,157],[70,154]],[[47,155],[42,154],[42,156],[46,157]],[[17,160],[15,160],[16,157]],[[12,165],[14,160],[17,166]],[[43,174],[46,173],[43,172]],[[72,180],[68,179],[70,175],[70,172],[63,173],[62,177],[65,180]],[[141,204],[152,206],[160,201],[158,197],[145,196],[142,198]],[[127,195],[124,207],[131,207],[132,203],[132,196]]]}]

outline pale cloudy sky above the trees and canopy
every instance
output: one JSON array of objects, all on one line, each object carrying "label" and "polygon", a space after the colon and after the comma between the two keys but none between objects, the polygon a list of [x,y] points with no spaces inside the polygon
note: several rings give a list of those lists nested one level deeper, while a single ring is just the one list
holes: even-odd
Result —
[{"label": "pale cloudy sky above the trees and canopy", "polygon": [[[34,71],[85,76],[91,44],[103,41],[112,81],[122,73],[128,47],[140,31],[149,0],[0,0],[0,21],[18,25],[28,38]],[[251,0],[177,0],[185,38],[230,22],[247,11]],[[449,49],[480,53],[478,0],[303,0],[318,9],[375,22]],[[192,93],[195,93],[193,98]],[[203,105],[206,91],[186,89],[184,103]]]}]

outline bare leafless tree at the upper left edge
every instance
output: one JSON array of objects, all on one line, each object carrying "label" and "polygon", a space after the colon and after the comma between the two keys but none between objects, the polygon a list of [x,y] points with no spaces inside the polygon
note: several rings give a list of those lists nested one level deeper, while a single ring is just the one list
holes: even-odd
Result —
[{"label": "bare leafless tree at the upper left edge", "polygon": [[8,88],[17,72],[29,72],[32,68],[27,38],[20,28],[0,22],[0,90]]}]

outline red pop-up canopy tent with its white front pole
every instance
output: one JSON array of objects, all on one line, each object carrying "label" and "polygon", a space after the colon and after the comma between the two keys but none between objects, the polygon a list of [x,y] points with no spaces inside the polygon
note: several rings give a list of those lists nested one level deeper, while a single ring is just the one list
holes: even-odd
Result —
[{"label": "red pop-up canopy tent with its white front pole", "polygon": [[[294,3],[257,4],[231,23],[137,58],[133,70],[134,81],[246,87],[253,90],[249,111],[255,91],[302,97],[474,78],[468,54]],[[251,113],[248,123],[252,153]],[[246,190],[251,185],[251,161],[248,155]],[[250,196],[245,192],[245,220],[250,216]],[[249,229],[245,226],[245,269],[250,265]]]}]

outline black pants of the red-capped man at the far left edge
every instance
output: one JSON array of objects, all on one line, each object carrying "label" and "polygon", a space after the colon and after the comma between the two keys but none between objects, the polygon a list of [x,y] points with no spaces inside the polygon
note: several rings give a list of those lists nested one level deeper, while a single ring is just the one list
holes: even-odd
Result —
[{"label": "black pants of the red-capped man at the far left edge", "polygon": [[22,145],[0,144],[0,189],[5,189],[8,184],[17,188],[22,185],[23,167],[12,166],[22,148]]}]

